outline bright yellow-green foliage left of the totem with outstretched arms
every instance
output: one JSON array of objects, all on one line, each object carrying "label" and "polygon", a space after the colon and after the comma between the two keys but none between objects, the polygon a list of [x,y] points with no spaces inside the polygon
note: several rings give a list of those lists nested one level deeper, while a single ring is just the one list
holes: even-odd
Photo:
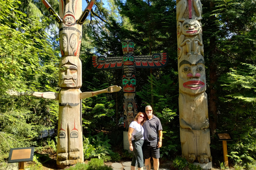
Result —
[{"label": "bright yellow-green foliage left of the totem with outstretched arms", "polygon": [[[36,146],[43,130],[56,125],[56,101],[9,96],[6,91],[58,89],[58,51],[45,32],[48,19],[20,10],[21,1],[0,1],[0,158],[10,148]],[[51,110],[50,110],[51,108]]]}]

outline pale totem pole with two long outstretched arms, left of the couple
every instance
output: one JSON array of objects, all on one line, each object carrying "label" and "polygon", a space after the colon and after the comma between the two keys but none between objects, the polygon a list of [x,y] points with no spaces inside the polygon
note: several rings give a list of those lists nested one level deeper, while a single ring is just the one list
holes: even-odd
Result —
[{"label": "pale totem pole with two long outstretched arms, left of the couple", "polygon": [[[51,15],[59,23],[61,60],[59,63],[59,93],[17,92],[11,95],[30,95],[59,100],[59,122],[57,141],[57,165],[72,165],[84,161],[82,138],[81,99],[101,93],[112,93],[121,87],[110,86],[96,92],[81,92],[82,63],[79,59],[82,24],[88,16],[95,0],[90,1],[82,13],[82,0],[59,0],[59,15],[46,0],[41,0]],[[62,167],[64,167],[62,166]],[[62,168],[61,166],[59,166]]]}]

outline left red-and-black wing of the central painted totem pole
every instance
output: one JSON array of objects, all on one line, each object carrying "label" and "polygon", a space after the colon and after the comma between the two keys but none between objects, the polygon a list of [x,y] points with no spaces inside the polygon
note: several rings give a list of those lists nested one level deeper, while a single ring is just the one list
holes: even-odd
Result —
[{"label": "left red-and-black wing of the central painted totem pole", "polygon": [[122,68],[123,57],[93,56],[92,68],[95,70],[111,70]]}]

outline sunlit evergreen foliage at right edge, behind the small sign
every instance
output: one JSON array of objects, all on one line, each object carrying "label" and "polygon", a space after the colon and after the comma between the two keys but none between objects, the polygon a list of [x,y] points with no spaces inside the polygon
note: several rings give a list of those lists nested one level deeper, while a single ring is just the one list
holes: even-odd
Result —
[{"label": "sunlit evergreen foliage at right edge, behind the small sign", "polygon": [[[231,133],[230,157],[235,162],[254,160],[256,153],[256,67],[241,63],[220,77],[226,107],[219,115],[219,130]],[[224,114],[225,113],[225,114]]]}]

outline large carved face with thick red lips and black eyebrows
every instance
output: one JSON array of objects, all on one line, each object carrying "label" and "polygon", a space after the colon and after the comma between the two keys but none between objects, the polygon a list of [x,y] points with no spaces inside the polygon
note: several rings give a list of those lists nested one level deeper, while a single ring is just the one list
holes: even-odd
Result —
[{"label": "large carved face with thick red lips and black eyebrows", "polygon": [[206,90],[204,57],[187,55],[179,59],[179,86],[183,93],[196,95]]}]

